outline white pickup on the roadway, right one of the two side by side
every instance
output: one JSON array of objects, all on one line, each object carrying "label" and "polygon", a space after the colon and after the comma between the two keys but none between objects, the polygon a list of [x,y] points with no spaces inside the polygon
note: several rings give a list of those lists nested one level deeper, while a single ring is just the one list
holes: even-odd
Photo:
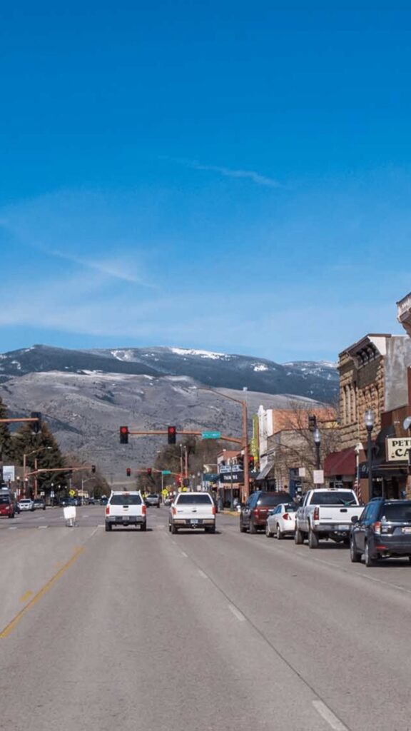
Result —
[{"label": "white pickup on the roadway, right one of the two side by side", "polygon": [[168,529],[177,533],[180,528],[203,528],[206,533],[216,532],[216,506],[209,493],[178,493],[170,505]]}]

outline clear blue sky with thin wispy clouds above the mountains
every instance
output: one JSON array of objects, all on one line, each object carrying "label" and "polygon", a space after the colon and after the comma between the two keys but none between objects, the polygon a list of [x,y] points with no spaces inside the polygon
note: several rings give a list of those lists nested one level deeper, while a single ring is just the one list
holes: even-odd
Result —
[{"label": "clear blue sky with thin wispy clouds above the mountains", "polygon": [[411,11],[9,4],[0,352],[404,333]]}]

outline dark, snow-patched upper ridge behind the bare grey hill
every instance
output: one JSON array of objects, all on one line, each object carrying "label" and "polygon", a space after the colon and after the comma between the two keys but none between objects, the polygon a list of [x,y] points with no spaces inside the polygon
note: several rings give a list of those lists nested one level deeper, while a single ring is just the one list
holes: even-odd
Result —
[{"label": "dark, snow-patched upper ridge behind the bare grey hill", "polygon": [[335,400],[339,385],[333,363],[279,364],[265,358],[180,347],[69,350],[34,345],[0,355],[0,382],[47,371],[188,376],[209,387],[247,387],[249,391],[287,393],[328,403]]}]

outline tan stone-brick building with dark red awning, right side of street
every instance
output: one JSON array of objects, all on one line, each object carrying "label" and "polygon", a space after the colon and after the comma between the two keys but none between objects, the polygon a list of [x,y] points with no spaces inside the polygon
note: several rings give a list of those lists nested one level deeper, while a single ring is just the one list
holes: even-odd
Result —
[{"label": "tan stone-brick building with dark red awning, right side of street", "polygon": [[399,413],[409,402],[410,365],[411,338],[407,336],[369,334],[340,353],[341,450],[325,462],[328,482],[342,480],[353,485],[358,478],[363,499],[368,498],[365,412],[372,409],[374,496],[401,496],[407,465],[388,460],[386,440],[402,435]]}]

